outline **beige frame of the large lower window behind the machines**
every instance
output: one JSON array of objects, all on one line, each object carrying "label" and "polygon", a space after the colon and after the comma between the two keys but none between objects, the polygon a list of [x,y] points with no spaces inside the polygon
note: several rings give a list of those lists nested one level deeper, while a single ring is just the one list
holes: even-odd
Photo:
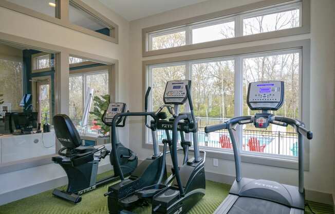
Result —
[{"label": "beige frame of the large lower window behind the machines", "polygon": [[[234,114],[235,115],[242,115],[243,114],[243,106],[240,105],[240,102],[243,102],[243,60],[244,58],[253,58],[259,54],[264,55],[274,55],[274,53],[280,54],[281,52],[300,52],[300,70],[299,70],[299,83],[300,83],[300,98],[299,98],[299,114],[301,118],[305,122],[306,126],[309,127],[310,124],[310,107],[308,105],[310,97],[309,97],[309,80],[310,80],[310,70],[309,70],[309,63],[310,63],[310,40],[300,40],[300,41],[292,41],[292,42],[284,42],[284,43],[276,43],[276,44],[268,44],[268,45],[261,45],[261,46],[253,46],[247,48],[238,48],[238,49],[229,49],[229,50],[222,50],[222,51],[215,51],[215,52],[207,52],[207,53],[198,53],[195,55],[189,56],[182,56],[182,57],[172,57],[172,58],[162,58],[162,59],[155,59],[155,60],[147,60],[143,61],[143,100],[146,87],[150,85],[150,69],[149,66],[160,64],[168,64],[173,65],[173,62],[177,63],[184,63],[184,61],[194,61],[194,62],[201,62],[201,61],[208,61],[209,58],[215,59],[229,59],[229,57],[238,57],[235,58],[235,98],[234,98]],[[272,54],[271,54],[272,53]],[[216,60],[217,61],[217,60]],[[236,72],[236,70],[240,70],[240,72]],[[240,81],[236,81],[236,78],[240,79]],[[240,84],[238,84],[240,82]],[[303,93],[304,92],[304,93]],[[151,99],[151,98],[150,98]],[[241,107],[239,107],[239,105]],[[304,106],[304,108],[302,108]],[[151,107],[150,107],[151,108]],[[143,121],[144,122],[144,121]],[[146,128],[143,128],[146,129]],[[148,136],[150,133],[143,130],[145,133],[143,135],[143,144],[142,148],[152,149],[152,145],[148,143]],[[241,133],[240,133],[241,134]],[[305,170],[309,170],[309,140],[305,140]],[[241,147],[241,145],[240,145]],[[161,147],[162,148],[162,147]],[[219,159],[233,159],[233,153],[231,150],[228,149],[221,149],[221,148],[209,148],[209,147],[201,147],[207,151],[208,157],[219,158]],[[297,158],[294,156],[284,156],[284,155],[276,155],[276,154],[266,154],[266,153],[255,153],[255,152],[243,152],[240,149],[240,155],[243,162],[246,163],[254,163],[260,165],[267,165],[267,166],[274,166],[274,167],[281,167],[281,168],[289,168],[289,169],[297,169],[298,163]],[[265,161],[266,160],[266,161]]]}]

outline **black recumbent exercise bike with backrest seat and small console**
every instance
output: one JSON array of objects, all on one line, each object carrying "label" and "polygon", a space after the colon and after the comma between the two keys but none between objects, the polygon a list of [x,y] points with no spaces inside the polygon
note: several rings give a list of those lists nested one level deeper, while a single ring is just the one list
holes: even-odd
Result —
[{"label": "black recumbent exercise bike with backrest seat and small console", "polygon": [[[102,120],[108,125],[108,120],[113,119],[115,114],[124,112],[125,106],[125,103],[109,103]],[[124,127],[125,120],[126,118],[119,118],[116,126]],[[114,171],[113,176],[97,181],[99,162],[109,154],[109,151],[105,146],[98,148],[82,146],[79,133],[67,115],[55,115],[53,117],[53,123],[55,135],[61,142],[63,148],[58,151],[60,156],[52,157],[52,161],[61,165],[68,178],[66,191],[54,189],[52,192],[53,195],[77,204],[81,202],[81,195],[83,193],[120,179],[118,172]],[[125,148],[119,141],[116,145],[116,150],[121,154],[121,156],[117,158],[121,163],[121,170],[124,174],[130,174],[137,166],[137,155],[133,151]],[[114,159],[114,156],[110,157],[110,163],[112,165]]]}]

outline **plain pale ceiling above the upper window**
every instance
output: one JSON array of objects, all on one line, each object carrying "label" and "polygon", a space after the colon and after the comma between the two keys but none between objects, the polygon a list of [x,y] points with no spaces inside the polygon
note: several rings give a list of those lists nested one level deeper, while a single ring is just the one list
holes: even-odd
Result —
[{"label": "plain pale ceiling above the upper window", "polygon": [[128,21],[208,0],[99,0]]}]

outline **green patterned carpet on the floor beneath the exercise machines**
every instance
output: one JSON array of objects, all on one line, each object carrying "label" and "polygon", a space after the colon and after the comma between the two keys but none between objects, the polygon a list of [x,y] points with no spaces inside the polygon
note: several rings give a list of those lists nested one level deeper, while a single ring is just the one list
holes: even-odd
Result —
[{"label": "green patterned carpet on the floor beneath the exercise machines", "polygon": [[[109,172],[110,173],[110,172]],[[108,173],[100,174],[99,177]],[[107,198],[103,196],[107,192],[105,185],[83,195],[82,202],[74,205],[51,195],[52,190],[33,195],[9,204],[0,206],[1,214],[108,214]],[[65,188],[65,187],[62,187]],[[230,185],[212,181],[206,181],[206,195],[195,205],[190,214],[213,213],[216,207],[227,197]],[[330,205],[309,202],[310,207],[318,214],[331,214],[333,208]],[[306,212],[309,212],[306,208]],[[151,207],[139,207],[135,213],[151,213]]]}]

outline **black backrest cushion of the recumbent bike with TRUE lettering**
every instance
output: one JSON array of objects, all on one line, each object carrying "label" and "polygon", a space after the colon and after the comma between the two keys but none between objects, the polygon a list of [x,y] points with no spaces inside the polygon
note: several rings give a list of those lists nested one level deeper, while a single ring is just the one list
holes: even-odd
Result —
[{"label": "black backrest cushion of the recumbent bike with TRUE lettering", "polygon": [[74,149],[82,146],[79,133],[67,115],[55,115],[53,117],[53,126],[57,139],[64,147]]}]

